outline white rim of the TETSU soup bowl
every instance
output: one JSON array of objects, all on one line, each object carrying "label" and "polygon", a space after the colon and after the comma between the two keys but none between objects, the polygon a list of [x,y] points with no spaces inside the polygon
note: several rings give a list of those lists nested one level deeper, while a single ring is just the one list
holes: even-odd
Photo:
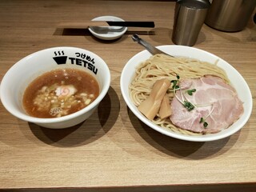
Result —
[{"label": "white rim of the TETSU soup bowl", "polygon": [[[29,114],[26,114],[26,112],[23,113],[16,113],[13,110],[10,109],[10,107],[7,105],[6,103],[6,96],[4,94],[4,90],[3,90],[3,86],[6,84],[7,81],[7,77],[11,75],[11,73],[13,72],[13,70],[15,70],[16,67],[23,65],[22,62],[28,58],[34,57],[37,54],[41,54],[42,52],[46,52],[49,50],[56,50],[56,49],[72,49],[72,50],[81,50],[81,51],[86,51],[87,53],[90,53],[91,55],[94,55],[94,57],[97,57],[98,60],[103,64],[106,74],[106,80],[104,81],[104,86],[102,86],[102,90],[98,95],[98,98],[96,98],[94,100],[94,102],[91,102],[89,106],[86,106],[85,108],[83,108],[82,110],[78,110],[77,112],[73,113],[73,114],[68,114],[66,116],[62,116],[59,118],[36,118],[36,117],[32,117]],[[9,70],[6,71],[6,74],[3,76],[2,78],[2,82],[0,84],[0,99],[2,102],[2,105],[6,108],[6,110],[8,110],[10,112],[10,114],[13,114],[15,117],[20,118],[26,122],[34,122],[34,123],[56,123],[56,122],[65,122],[68,121],[70,119],[76,118],[78,116],[81,116],[82,114],[86,114],[86,112],[93,110],[94,107],[98,106],[99,102],[102,101],[102,99],[105,97],[107,91],[110,88],[110,69],[107,66],[106,62],[100,57],[98,56],[98,54],[94,54],[93,52],[91,52],[90,50],[86,50],[83,48],[79,48],[79,47],[74,47],[74,46],[54,46],[54,47],[50,47],[50,48],[46,48],[43,50],[38,50],[32,54],[28,54],[26,57],[21,58],[20,60],[18,60],[18,62],[15,62],[13,66],[10,67]]]}]

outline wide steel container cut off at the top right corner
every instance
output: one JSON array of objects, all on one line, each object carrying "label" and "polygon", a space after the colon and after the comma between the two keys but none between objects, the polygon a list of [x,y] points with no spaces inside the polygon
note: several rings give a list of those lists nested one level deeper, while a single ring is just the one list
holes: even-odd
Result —
[{"label": "wide steel container cut off at the top right corner", "polygon": [[217,30],[243,30],[255,6],[256,0],[213,0],[205,22]]}]

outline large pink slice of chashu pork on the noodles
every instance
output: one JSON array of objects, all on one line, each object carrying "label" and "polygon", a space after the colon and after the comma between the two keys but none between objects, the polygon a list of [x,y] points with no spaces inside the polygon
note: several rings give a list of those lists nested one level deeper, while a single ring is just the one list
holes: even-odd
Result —
[{"label": "large pink slice of chashu pork on the noodles", "polygon": [[[176,95],[180,101],[186,100],[195,106],[194,110],[188,111],[177,98],[171,102],[170,120],[182,129],[202,134],[217,133],[229,127],[243,113],[238,94],[222,78],[206,75],[184,79],[179,86],[182,94],[177,90]],[[186,90],[191,89],[196,91],[192,95],[187,94]]]}]

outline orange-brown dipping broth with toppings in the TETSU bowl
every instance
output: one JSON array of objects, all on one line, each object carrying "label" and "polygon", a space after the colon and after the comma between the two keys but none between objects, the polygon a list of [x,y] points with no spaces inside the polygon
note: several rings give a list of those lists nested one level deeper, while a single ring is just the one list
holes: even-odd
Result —
[{"label": "orange-brown dipping broth with toppings in the TETSU bowl", "polygon": [[93,75],[82,70],[61,69],[42,74],[26,88],[23,107],[37,118],[58,118],[73,114],[98,97]]}]

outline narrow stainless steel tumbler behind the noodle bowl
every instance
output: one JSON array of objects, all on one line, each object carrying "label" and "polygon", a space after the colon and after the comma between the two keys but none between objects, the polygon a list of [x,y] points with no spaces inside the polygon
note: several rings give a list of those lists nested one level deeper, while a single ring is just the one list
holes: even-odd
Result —
[{"label": "narrow stainless steel tumbler behind the noodle bowl", "polygon": [[194,46],[205,22],[208,0],[178,0],[174,10],[172,41],[183,46]]}]

